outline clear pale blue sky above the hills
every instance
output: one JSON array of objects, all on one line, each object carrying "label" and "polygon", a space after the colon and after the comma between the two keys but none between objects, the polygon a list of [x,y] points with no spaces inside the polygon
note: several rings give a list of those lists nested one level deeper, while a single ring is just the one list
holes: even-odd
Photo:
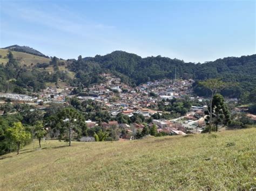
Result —
[{"label": "clear pale blue sky above the hills", "polygon": [[0,0],[0,47],[205,62],[256,52],[255,1]]}]

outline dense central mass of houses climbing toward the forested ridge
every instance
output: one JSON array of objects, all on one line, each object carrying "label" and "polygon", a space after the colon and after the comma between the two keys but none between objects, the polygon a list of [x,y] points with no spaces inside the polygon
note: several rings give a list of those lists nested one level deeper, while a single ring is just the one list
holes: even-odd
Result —
[{"label": "dense central mass of houses climbing toward the forested ridge", "polygon": [[[158,101],[190,96],[192,94],[193,80],[161,80],[147,82],[138,87],[132,88],[121,82],[120,78],[111,74],[103,74],[105,83],[87,88],[84,93],[79,94],[79,100],[95,100],[106,106],[112,116],[119,112],[132,116],[133,112],[138,112],[145,117],[157,111],[147,108],[157,105]],[[154,93],[156,96],[151,96]],[[192,97],[193,98],[193,97]]]}]

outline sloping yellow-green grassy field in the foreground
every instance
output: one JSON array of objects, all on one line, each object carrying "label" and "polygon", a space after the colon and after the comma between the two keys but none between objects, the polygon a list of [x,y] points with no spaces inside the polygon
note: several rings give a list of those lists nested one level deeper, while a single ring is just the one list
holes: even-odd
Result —
[{"label": "sloping yellow-green grassy field in the foreground", "polygon": [[248,190],[256,186],[255,137],[252,128],[71,147],[46,141],[2,156],[0,190]]}]

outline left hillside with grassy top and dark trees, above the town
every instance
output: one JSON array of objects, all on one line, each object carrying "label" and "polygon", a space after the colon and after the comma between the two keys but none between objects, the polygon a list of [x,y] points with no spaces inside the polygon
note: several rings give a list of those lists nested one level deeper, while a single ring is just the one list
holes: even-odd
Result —
[{"label": "left hillside with grassy top and dark trees, above the town", "polygon": [[[8,49],[0,49],[0,91],[25,94],[40,91],[49,86],[69,86],[75,73],[69,71],[69,61],[57,59],[56,68],[52,59],[34,54],[11,51],[13,59],[9,62]],[[43,67],[42,67],[43,66]],[[15,79],[15,81],[14,81]]]}]

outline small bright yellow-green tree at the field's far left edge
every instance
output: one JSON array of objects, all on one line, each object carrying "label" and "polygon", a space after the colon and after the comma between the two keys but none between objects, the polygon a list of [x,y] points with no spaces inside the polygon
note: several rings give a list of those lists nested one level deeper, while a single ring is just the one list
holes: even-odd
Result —
[{"label": "small bright yellow-green tree at the field's far left edge", "polygon": [[19,150],[29,141],[31,134],[25,130],[21,122],[14,123],[8,131],[11,140],[17,145],[17,154],[19,154]]}]

